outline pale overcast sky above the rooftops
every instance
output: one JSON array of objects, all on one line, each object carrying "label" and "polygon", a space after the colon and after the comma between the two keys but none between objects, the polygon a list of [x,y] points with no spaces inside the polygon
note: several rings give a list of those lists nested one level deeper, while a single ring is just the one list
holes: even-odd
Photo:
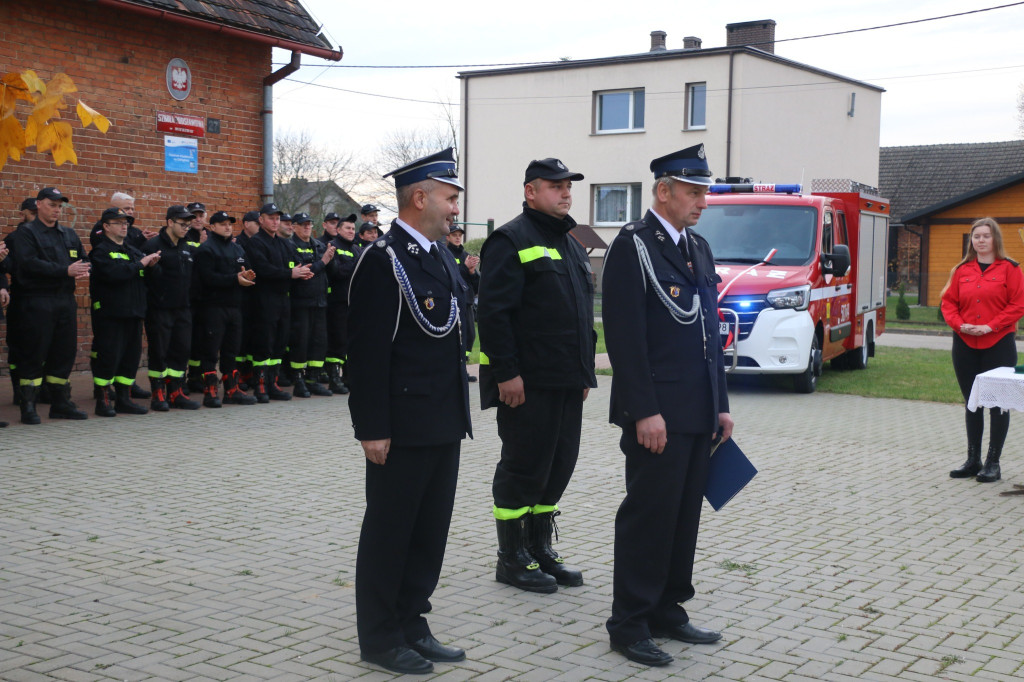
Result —
[{"label": "pale overcast sky above the rooftops", "polygon": [[[696,36],[725,45],[725,26],[774,19],[776,41],[983,9],[1007,0],[861,0],[765,3],[752,0],[606,0],[547,4],[480,0],[338,2],[302,0],[353,66],[490,65],[645,52],[650,32],[669,49]],[[499,8],[500,7],[500,8]],[[1024,3],[1002,9],[843,36],[778,42],[775,53],[886,89],[884,146],[998,141],[1020,137],[1017,96],[1024,83]],[[274,62],[289,54],[274,50]],[[458,105],[463,69],[303,67],[275,86],[274,127],[310,130],[332,146],[370,158],[392,130],[432,127],[442,108],[369,94]],[[314,85],[303,85],[302,82]],[[343,92],[344,88],[356,92]]]}]

